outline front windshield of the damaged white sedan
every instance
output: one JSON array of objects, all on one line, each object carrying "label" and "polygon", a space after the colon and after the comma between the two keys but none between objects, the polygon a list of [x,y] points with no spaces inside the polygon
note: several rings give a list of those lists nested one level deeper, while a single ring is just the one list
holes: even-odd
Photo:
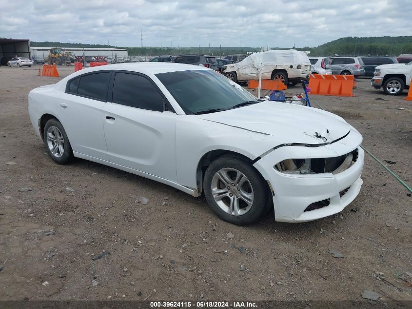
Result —
[{"label": "front windshield of the damaged white sedan", "polygon": [[212,70],[159,73],[156,77],[186,114],[230,109],[239,103],[256,101],[247,90]]}]

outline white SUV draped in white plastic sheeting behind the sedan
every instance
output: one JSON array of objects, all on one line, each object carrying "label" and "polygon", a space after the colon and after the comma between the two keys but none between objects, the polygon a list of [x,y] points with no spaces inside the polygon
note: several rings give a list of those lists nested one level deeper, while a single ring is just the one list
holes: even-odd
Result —
[{"label": "white SUV draped in white plastic sheeting behind the sedan", "polygon": [[221,73],[234,82],[257,80],[260,63],[262,79],[279,80],[285,85],[308,80],[311,73],[308,56],[294,49],[254,53],[239,63],[222,66]]}]

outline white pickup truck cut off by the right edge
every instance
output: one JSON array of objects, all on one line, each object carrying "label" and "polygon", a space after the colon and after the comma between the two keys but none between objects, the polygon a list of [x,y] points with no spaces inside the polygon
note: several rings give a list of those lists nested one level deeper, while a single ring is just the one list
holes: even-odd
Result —
[{"label": "white pickup truck cut off by the right edge", "polygon": [[404,89],[409,89],[412,78],[412,62],[383,64],[375,68],[371,84],[376,89],[391,96],[397,96]]}]

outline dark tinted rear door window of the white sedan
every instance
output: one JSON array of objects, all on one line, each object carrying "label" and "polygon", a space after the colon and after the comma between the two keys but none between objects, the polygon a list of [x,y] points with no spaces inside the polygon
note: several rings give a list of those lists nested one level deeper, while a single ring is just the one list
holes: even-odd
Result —
[{"label": "dark tinted rear door window of the white sedan", "polygon": [[110,72],[80,76],[77,94],[98,100],[106,100]]}]

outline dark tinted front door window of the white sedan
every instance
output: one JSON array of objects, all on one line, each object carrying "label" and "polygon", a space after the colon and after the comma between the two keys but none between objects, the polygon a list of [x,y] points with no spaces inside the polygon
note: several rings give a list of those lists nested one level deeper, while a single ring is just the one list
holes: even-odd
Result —
[{"label": "dark tinted front door window of the white sedan", "polygon": [[113,103],[163,111],[164,99],[147,78],[129,73],[116,73],[113,84]]}]

